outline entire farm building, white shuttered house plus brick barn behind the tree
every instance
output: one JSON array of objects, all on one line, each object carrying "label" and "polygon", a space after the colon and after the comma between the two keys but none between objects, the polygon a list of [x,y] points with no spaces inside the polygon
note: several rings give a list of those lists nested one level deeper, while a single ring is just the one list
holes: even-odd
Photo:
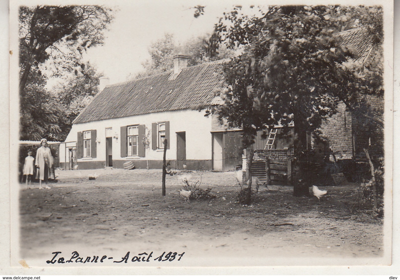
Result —
[{"label": "entire farm building, white shuttered house plus brick barn behind the tree", "polygon": [[[357,60],[374,58],[372,44],[360,29],[341,32],[341,44],[358,52]],[[362,32],[361,32],[362,33]],[[171,167],[192,170],[232,170],[242,164],[240,129],[228,128],[216,115],[205,117],[204,108],[218,102],[215,90],[222,86],[222,61],[187,67],[188,57],[174,56],[172,71],[133,81],[107,85],[74,120],[60,144],[60,166],[65,169],[123,168],[132,161],[136,168],[161,168],[164,145]],[[366,99],[378,117],[383,98]],[[340,103],[338,113],[321,128],[324,143],[309,137],[309,147],[323,157],[329,148],[338,160],[356,161],[369,145],[382,147],[383,129],[368,131]],[[260,132],[253,149],[262,157],[290,159],[293,130],[280,127]],[[380,151],[380,153],[383,153]]]}]

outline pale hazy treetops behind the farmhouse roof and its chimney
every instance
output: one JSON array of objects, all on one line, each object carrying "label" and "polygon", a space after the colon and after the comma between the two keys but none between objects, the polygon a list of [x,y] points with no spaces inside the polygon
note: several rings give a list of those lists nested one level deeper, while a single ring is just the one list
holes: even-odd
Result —
[{"label": "pale hazy treetops behind the farmhouse roof and its chimney", "polygon": [[142,63],[144,71],[128,76],[130,78],[140,78],[158,73],[163,73],[174,68],[173,57],[178,52],[182,52],[189,57],[188,66],[195,66],[204,62],[230,58],[234,51],[228,50],[225,46],[220,46],[211,57],[207,52],[208,35],[190,38],[179,46],[172,34],[164,34],[164,38],[152,43],[148,48],[150,59]]}]

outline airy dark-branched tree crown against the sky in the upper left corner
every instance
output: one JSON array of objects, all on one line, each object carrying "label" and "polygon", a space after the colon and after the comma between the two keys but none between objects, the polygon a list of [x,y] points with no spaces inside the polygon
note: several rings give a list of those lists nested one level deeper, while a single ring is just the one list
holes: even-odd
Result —
[{"label": "airy dark-branched tree crown against the sky in the upper left corner", "polygon": [[[83,48],[103,44],[103,31],[112,20],[103,6],[21,6],[20,92],[32,66],[62,56],[62,70],[71,70]],[[70,51],[66,53],[66,51]],[[56,67],[58,65],[55,65]]]}]

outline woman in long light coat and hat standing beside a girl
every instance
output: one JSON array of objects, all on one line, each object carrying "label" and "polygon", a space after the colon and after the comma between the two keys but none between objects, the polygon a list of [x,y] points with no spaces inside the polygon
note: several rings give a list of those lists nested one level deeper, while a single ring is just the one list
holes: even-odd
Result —
[{"label": "woman in long light coat and hat standing beside a girl", "polygon": [[47,147],[47,140],[40,140],[40,148],[36,152],[36,161],[35,165],[38,168],[38,172],[36,173],[36,179],[39,179],[39,189],[42,188],[42,180],[46,183],[46,189],[51,189],[47,183],[48,179],[52,177],[52,166],[53,166],[53,158],[51,156],[50,148]]}]

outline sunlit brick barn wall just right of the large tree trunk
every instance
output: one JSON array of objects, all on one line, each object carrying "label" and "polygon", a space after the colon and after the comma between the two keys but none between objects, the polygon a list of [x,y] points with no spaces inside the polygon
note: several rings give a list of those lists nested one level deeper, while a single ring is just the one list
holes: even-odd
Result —
[{"label": "sunlit brick barn wall just right of the large tree trunk", "polygon": [[322,122],[320,130],[336,159],[353,158],[352,116],[343,102],[338,105],[338,113]]}]

